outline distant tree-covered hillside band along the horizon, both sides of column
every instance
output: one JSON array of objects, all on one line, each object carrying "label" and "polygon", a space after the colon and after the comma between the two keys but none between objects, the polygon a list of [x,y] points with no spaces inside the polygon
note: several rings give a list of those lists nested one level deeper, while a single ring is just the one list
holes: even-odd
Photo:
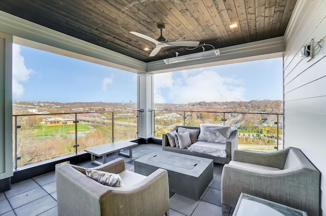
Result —
[{"label": "distant tree-covered hillside band along the horizon, both sides of column", "polygon": [[[156,110],[185,111],[220,111],[220,112],[258,112],[282,113],[281,100],[253,100],[230,102],[193,102],[188,104],[155,104]],[[13,114],[32,113],[64,113],[64,112],[100,112],[110,110],[135,110],[136,103],[106,103],[106,102],[30,102],[13,101]]]}]

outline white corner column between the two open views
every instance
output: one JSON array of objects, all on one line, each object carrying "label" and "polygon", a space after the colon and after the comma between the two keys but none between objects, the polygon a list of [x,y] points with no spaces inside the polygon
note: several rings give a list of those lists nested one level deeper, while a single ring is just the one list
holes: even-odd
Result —
[{"label": "white corner column between the two open views", "polygon": [[139,113],[139,138],[154,137],[153,126],[153,74],[141,73],[137,75],[137,108]]}]

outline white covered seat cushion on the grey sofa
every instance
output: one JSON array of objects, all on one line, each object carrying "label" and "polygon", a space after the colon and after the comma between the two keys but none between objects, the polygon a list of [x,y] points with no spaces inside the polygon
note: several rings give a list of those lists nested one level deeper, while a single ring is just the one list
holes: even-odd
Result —
[{"label": "white covered seat cushion on the grey sofa", "polygon": [[188,147],[188,150],[220,158],[226,158],[227,156],[225,143],[197,141]]}]

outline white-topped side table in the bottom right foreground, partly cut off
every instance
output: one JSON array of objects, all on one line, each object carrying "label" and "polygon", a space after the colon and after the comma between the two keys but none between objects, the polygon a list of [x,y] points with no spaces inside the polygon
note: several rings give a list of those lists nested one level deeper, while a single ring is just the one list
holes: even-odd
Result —
[{"label": "white-topped side table in the bottom right foreground, partly cut off", "polygon": [[241,193],[233,216],[307,216],[302,210]]}]

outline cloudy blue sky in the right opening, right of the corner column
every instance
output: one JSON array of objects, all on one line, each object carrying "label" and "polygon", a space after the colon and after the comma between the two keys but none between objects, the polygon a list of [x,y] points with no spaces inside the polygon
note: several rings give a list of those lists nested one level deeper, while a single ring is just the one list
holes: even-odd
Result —
[{"label": "cloudy blue sky in the right opening, right of the corner column", "polygon": [[157,74],[154,99],[157,103],[282,100],[282,80],[282,58]]}]

